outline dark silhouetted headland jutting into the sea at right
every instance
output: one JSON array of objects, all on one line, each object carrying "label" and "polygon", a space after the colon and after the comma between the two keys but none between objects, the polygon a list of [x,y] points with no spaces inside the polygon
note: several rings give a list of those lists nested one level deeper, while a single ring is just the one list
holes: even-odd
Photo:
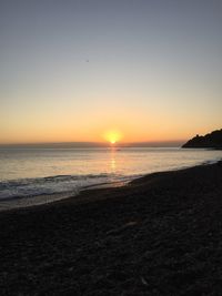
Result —
[{"label": "dark silhouetted headland jutting into the sea at right", "polygon": [[222,149],[222,129],[213,131],[205,135],[198,135],[189,140],[182,147],[196,149],[196,147],[209,147],[209,149]]}]

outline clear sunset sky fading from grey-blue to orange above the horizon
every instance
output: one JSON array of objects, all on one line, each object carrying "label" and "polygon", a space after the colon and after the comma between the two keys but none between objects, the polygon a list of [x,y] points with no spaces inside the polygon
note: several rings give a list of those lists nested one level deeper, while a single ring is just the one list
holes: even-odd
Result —
[{"label": "clear sunset sky fading from grey-blue to orange above the horizon", "polygon": [[221,0],[1,0],[0,143],[222,127]]}]

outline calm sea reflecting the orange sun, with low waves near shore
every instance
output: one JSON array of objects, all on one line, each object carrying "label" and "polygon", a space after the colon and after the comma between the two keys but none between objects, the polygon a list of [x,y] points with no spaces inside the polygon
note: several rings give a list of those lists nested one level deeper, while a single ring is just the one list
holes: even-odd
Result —
[{"label": "calm sea reflecting the orange sun, with low waves near shore", "polygon": [[78,193],[152,172],[222,159],[222,151],[182,149],[0,149],[0,200]]}]

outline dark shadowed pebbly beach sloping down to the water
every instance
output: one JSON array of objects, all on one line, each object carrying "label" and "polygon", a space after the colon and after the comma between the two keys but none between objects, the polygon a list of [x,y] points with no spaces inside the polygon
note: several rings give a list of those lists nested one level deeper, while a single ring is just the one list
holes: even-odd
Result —
[{"label": "dark shadowed pebbly beach sloping down to the water", "polygon": [[1,295],[221,295],[222,162],[0,213]]}]

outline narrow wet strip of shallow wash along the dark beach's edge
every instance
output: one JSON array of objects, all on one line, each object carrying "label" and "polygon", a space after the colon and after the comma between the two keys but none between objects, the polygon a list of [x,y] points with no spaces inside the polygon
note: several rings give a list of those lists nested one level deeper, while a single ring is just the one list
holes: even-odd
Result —
[{"label": "narrow wet strip of shallow wash along the dark beach's edge", "polygon": [[149,177],[150,175],[153,174],[164,174],[164,173],[169,173],[169,172],[178,172],[178,171],[183,171],[183,170],[189,170],[192,167],[196,167],[196,166],[204,166],[204,165],[211,165],[211,164],[215,164],[215,163],[220,163],[221,161],[219,160],[214,160],[214,161],[209,161],[209,162],[203,162],[201,164],[196,164],[193,166],[188,166],[188,167],[179,167],[179,169],[172,169],[169,171],[158,171],[158,172],[153,172],[153,173],[148,173],[144,175],[141,175],[139,177],[132,178],[130,181],[115,181],[112,183],[101,183],[101,184],[94,184],[94,185],[89,185],[89,186],[84,186],[83,188],[80,188],[79,192],[61,192],[61,193],[53,193],[53,194],[41,194],[41,195],[33,195],[33,196],[17,196],[17,197],[12,197],[12,198],[2,198],[0,200],[0,213],[4,212],[4,211],[16,211],[16,210],[24,210],[24,208],[29,208],[29,207],[36,207],[36,206],[43,206],[43,205],[48,205],[51,203],[57,203],[63,200],[69,200],[69,198],[77,198],[79,200],[79,197],[82,195],[82,193],[84,193],[85,191],[95,191],[95,190],[112,190],[115,187],[124,187],[128,186],[131,183],[134,183],[134,181],[138,183],[140,182],[140,180],[144,178],[144,177]]}]

